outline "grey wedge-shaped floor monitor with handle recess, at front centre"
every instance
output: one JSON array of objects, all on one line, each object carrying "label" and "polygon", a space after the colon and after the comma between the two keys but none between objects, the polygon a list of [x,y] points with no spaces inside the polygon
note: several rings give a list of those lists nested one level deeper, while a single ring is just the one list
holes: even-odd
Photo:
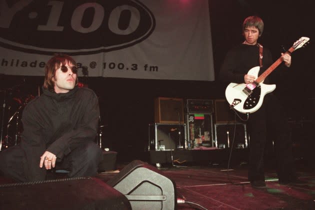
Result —
[{"label": "grey wedge-shaped floor monitor with handle recess, at front centre", "polygon": [[124,194],[132,209],[174,209],[176,185],[155,167],[133,160],[107,184]]}]

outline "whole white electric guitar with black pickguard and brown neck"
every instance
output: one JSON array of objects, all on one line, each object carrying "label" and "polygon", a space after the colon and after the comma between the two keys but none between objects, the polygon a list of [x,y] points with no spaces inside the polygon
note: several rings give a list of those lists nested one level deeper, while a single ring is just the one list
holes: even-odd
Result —
[{"label": "whole white electric guitar with black pickguard and brown neck", "polygon": [[[285,53],[292,53],[294,50],[302,47],[308,37],[301,37],[294,42]],[[225,89],[225,97],[230,107],[233,107],[241,113],[252,113],[258,110],[262,104],[263,97],[275,89],[275,84],[264,84],[263,80],[282,62],[279,57],[270,67],[268,67],[259,77],[259,66],[251,68],[247,74],[255,76],[251,83],[229,83]]]}]

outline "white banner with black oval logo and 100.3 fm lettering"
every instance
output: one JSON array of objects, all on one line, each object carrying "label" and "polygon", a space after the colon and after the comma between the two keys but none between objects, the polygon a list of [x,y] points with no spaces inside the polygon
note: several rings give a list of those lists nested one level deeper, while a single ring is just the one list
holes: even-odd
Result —
[{"label": "white banner with black oval logo and 100.3 fm lettering", "polygon": [[88,76],[214,80],[208,0],[0,0],[0,73],[55,52]]}]

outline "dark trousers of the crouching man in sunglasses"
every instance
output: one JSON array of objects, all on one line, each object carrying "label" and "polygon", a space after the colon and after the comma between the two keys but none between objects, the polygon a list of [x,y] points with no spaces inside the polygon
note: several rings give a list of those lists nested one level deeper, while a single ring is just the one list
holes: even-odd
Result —
[{"label": "dark trousers of the crouching man in sunglasses", "polygon": [[[56,161],[56,167],[69,170],[69,177],[95,176],[97,166],[102,158],[102,152],[98,145],[92,141],[81,143],[61,161]],[[39,167],[38,162],[33,162]],[[4,176],[17,181],[30,181],[27,178],[27,159],[20,145],[0,151],[0,170]],[[44,169],[43,166],[43,170]],[[46,173],[44,173],[46,174]]]}]

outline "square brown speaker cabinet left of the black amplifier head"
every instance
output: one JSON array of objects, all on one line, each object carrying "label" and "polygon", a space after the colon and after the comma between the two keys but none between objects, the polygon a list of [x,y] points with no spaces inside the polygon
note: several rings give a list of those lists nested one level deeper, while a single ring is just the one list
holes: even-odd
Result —
[{"label": "square brown speaker cabinet left of the black amplifier head", "polygon": [[184,123],[182,98],[157,97],[154,99],[154,122]]}]

